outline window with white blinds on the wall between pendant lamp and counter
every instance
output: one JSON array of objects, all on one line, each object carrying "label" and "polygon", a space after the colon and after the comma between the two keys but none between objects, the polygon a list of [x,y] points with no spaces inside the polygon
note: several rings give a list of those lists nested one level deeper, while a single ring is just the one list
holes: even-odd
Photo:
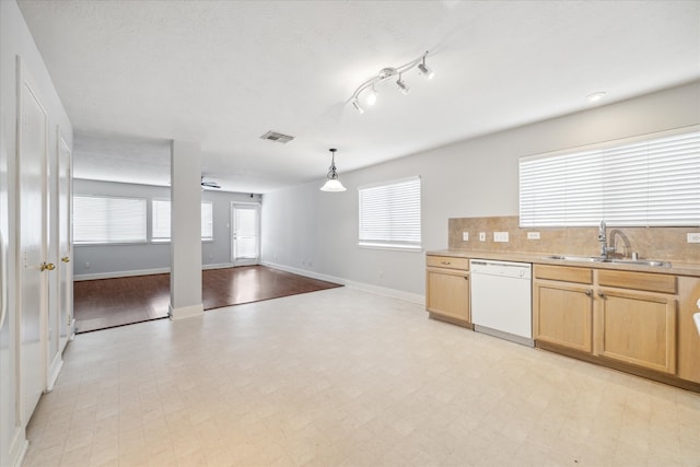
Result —
[{"label": "window with white blinds on the wall between pendant lamp and counter", "polygon": [[359,189],[360,245],[420,248],[420,177]]}]

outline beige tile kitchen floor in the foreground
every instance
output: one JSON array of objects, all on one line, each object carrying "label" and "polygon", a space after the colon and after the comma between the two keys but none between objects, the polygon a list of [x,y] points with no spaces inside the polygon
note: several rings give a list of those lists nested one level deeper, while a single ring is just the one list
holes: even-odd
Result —
[{"label": "beige tile kitchen floor in the foreground", "polygon": [[80,335],[25,466],[700,466],[700,395],[348,288]]}]

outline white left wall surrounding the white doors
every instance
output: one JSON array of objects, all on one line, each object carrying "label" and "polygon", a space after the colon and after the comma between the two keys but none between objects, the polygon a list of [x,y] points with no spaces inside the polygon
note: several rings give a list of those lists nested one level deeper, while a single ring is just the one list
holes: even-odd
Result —
[{"label": "white left wall surrounding the white doors", "polygon": [[[40,95],[42,104],[48,114],[48,163],[55,176],[56,167],[56,135],[60,127],[66,142],[72,148],[72,126],[62,107],[60,98],[54,89],[42,56],[34,44],[24,17],[14,1],[0,1],[0,232],[8,242],[8,318],[0,329],[0,465],[15,465],[21,460],[23,450],[26,448],[25,427],[20,422],[16,411],[20,393],[16,383],[21,381],[19,364],[19,329],[20,310],[18,306],[18,275],[16,246],[19,238],[14,226],[18,224],[19,213],[15,210],[18,177],[16,177],[16,57],[20,56],[24,67],[33,77],[36,92]],[[51,180],[49,194],[56,192],[56,183]],[[49,207],[54,209],[54,200]],[[55,241],[56,224],[51,218],[51,242]],[[49,245],[49,257],[56,257],[56,245]],[[52,281],[58,275],[52,275]],[[50,288],[48,319],[58,318],[57,290],[58,283]],[[48,346],[52,349],[54,346]],[[47,355],[52,361],[56,355]]]}]

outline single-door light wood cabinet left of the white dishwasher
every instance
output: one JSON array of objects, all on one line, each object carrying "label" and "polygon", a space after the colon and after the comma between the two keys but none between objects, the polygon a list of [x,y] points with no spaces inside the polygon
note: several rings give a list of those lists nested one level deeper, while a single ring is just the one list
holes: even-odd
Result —
[{"label": "single-door light wood cabinet left of the white dishwasher", "polygon": [[469,326],[469,260],[447,256],[428,256],[425,269],[425,308],[433,317]]}]

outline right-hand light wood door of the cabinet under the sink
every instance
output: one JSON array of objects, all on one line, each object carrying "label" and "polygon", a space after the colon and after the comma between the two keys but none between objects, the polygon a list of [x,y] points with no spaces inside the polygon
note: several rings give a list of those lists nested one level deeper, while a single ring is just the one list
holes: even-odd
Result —
[{"label": "right-hand light wood door of the cabinet under the sink", "polygon": [[665,373],[676,372],[676,300],[602,289],[596,307],[596,353]]}]

